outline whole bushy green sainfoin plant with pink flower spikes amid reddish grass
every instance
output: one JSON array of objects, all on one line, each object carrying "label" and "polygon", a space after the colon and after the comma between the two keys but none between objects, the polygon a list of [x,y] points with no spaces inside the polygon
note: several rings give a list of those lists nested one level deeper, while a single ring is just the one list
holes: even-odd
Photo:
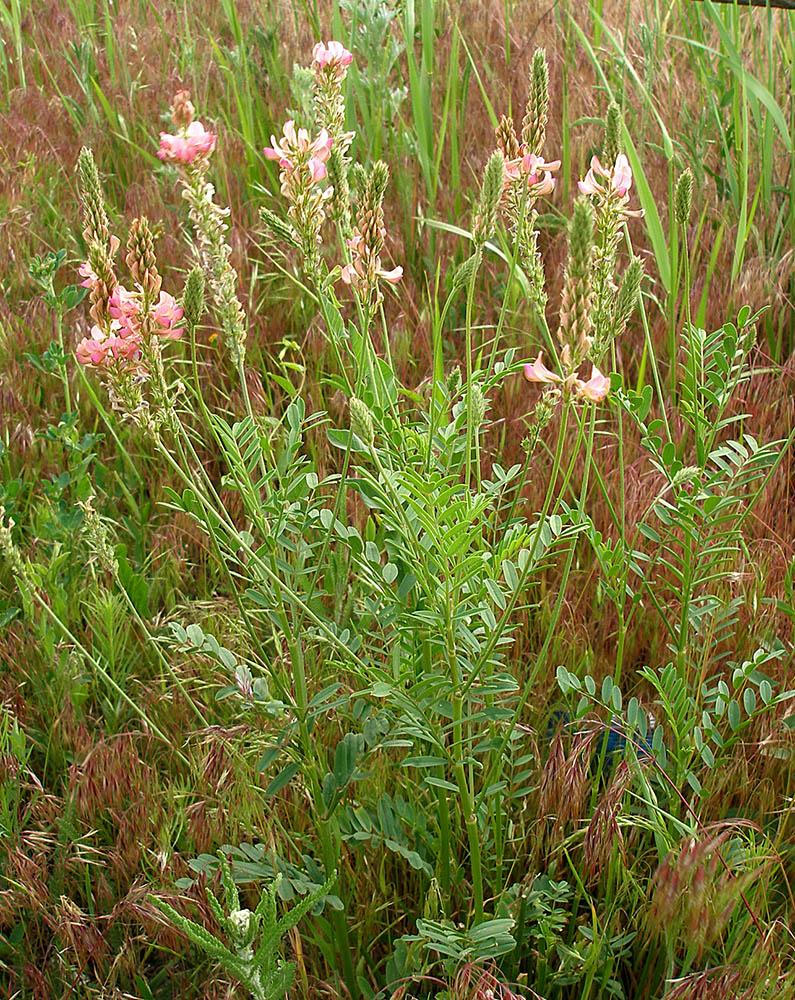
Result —
[{"label": "whole bushy green sainfoin plant with pink flower spikes amid reddish grass", "polygon": [[[121,283],[120,237],[93,156],[80,156],[91,326],[76,362],[102,383],[109,419],[132,424],[168,466],[160,500],[205,538],[238,643],[199,621],[139,624],[167,664],[202,656],[227,671],[219,697],[257,722],[273,810],[261,843],[193,859],[198,878],[220,872],[224,886],[225,907],[207,890],[209,926],[156,894],[154,905],[255,998],[311,992],[310,950],[312,975],[323,969],[328,989],[351,997],[782,995],[793,988],[783,929],[764,913],[768,894],[786,891],[781,845],[744,817],[716,816],[709,793],[746,734],[764,731],[770,754],[789,760],[793,692],[766,666],[791,649],[760,632],[748,658],[732,652],[744,527],[791,444],[758,442],[735,405],[757,317],[743,309],[707,333],[686,310],[676,400],[653,356],[653,385],[625,381],[621,342],[643,306],[630,242],[642,213],[615,105],[577,185],[550,302],[540,213],[561,163],[545,149],[539,51],[521,123],[503,117],[484,157],[471,252],[447,276],[440,327],[462,299],[463,356],[446,359],[440,333],[429,382],[404,384],[390,351],[403,267],[390,250],[389,170],[359,162],[346,129],[352,58],[337,41],[315,46],[311,120],[286,120],[263,149],[278,172],[261,212],[269,262],[315,314],[336,416],[283,373],[272,373],[273,413],[251,398],[233,221],[209,179],[223,136],[196,119],[190,95],[176,94],[158,153],[187,206],[194,266],[181,295],[144,218],[130,224]],[[689,201],[685,175],[683,226]],[[492,322],[482,282],[496,267],[505,302]],[[516,287],[532,336],[508,333]],[[204,375],[204,320],[234,371],[223,405]],[[524,460],[505,468],[494,428],[511,391],[527,398]],[[630,442],[657,484],[641,511],[627,502]],[[90,501],[83,509],[95,555],[129,597],[107,525]],[[39,582],[12,527],[0,521],[0,549],[33,616]],[[598,669],[559,641],[586,552],[615,619],[614,657]],[[665,642],[628,663],[639,616]],[[535,706],[546,724],[533,728],[528,709],[551,675],[560,699]],[[248,882],[267,883],[253,909],[238,889]],[[279,917],[277,901],[296,893]],[[364,917],[362,893],[373,897]],[[724,993],[697,992],[708,973]]]}]

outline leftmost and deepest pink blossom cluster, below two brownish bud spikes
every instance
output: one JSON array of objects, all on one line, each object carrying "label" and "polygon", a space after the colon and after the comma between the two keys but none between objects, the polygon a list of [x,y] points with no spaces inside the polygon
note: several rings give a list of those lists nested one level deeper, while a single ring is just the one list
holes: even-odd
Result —
[{"label": "leftmost and deepest pink blossom cluster, below two brownish bud spikes", "polygon": [[[80,273],[90,270],[88,265],[83,265]],[[109,330],[92,326],[90,336],[84,337],[77,345],[77,359],[81,364],[102,367],[111,361],[137,361],[141,357],[144,338],[139,293],[129,292],[122,285],[116,285],[108,300],[108,312],[112,317]],[[165,340],[179,340],[183,330],[177,323],[183,315],[184,311],[177,305],[174,296],[161,292],[149,314],[150,335]]]}]

